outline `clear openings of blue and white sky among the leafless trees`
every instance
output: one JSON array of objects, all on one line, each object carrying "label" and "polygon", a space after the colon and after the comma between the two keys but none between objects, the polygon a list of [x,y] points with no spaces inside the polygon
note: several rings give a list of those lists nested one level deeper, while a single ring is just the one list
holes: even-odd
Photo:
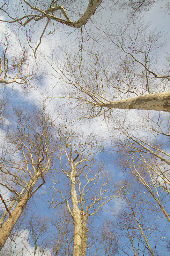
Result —
[{"label": "clear openings of blue and white sky among the leafless trees", "polygon": [[[126,16],[126,11],[123,12],[110,12],[110,10],[108,10],[107,12],[102,10],[101,13],[99,13],[98,16],[96,16],[94,18],[94,21],[96,22],[95,24],[100,25],[102,24],[106,24],[108,22],[108,20],[110,20],[110,22],[112,22],[113,24],[116,23],[119,20],[124,19]],[[102,18],[101,18],[102,17]],[[160,29],[161,32],[166,36],[168,36],[169,34],[169,16],[168,13],[164,13],[164,12],[160,12],[160,4],[159,3],[155,3],[154,6],[144,14],[144,21],[145,22],[150,22],[150,27],[148,28],[149,30],[154,30],[154,29]],[[102,27],[102,25],[101,25]],[[88,28],[88,24],[87,24],[87,28]],[[88,28],[90,29],[90,28]],[[97,37],[97,35],[100,33],[100,31],[96,28],[92,28],[95,31],[95,36]],[[72,31],[70,28],[68,28],[67,33],[69,34],[70,31]],[[148,32],[146,31],[146,33]],[[69,39],[68,41],[68,35],[66,34],[61,34],[61,32],[58,32],[54,35],[51,35],[51,37],[44,37],[42,40],[42,44],[40,46],[40,52],[42,53],[43,56],[45,56],[48,59],[48,56],[51,54],[51,51],[55,51],[55,58],[59,58],[60,56],[62,56],[62,51],[60,49],[60,47],[66,47],[68,48],[68,50],[71,50],[72,48],[74,48],[74,50],[78,49],[78,41],[76,40],[76,36],[77,36],[77,31],[73,32],[71,34],[71,39]],[[35,36],[34,39],[36,39],[37,36]],[[69,37],[69,38],[70,38]],[[61,43],[61,38],[62,43]],[[55,44],[51,44],[51,39],[55,40]],[[23,41],[25,40],[25,38],[23,38]],[[15,41],[15,38],[14,38]],[[103,39],[100,38],[100,42],[102,44],[106,43],[107,46],[107,42],[103,42]],[[98,44],[96,44],[98,45]],[[102,46],[100,46],[102,48]],[[75,50],[75,51],[76,51]],[[164,56],[166,54],[166,52],[168,52],[169,50],[169,45],[167,44],[166,47],[164,47],[163,49],[161,49],[161,51],[159,52],[159,57],[160,57],[160,61],[159,61],[159,65],[160,68],[163,67],[164,64]],[[104,50],[105,51],[105,50]],[[28,50],[28,54],[32,55],[32,50]],[[39,53],[38,53],[39,54]],[[29,56],[29,62],[30,64],[34,63],[33,60],[33,56]],[[41,63],[40,65],[40,71],[42,71],[43,69],[45,70],[48,69],[51,73],[54,73],[54,71],[52,70],[52,68],[50,67],[49,63],[47,63],[47,61],[43,60],[41,55],[38,55],[37,60],[35,60],[35,62],[37,61],[37,63]],[[63,60],[64,62],[64,60]],[[31,65],[30,65],[31,66]],[[26,94],[22,93],[22,88],[19,87],[18,85],[14,88],[13,90],[11,89],[11,86],[8,86],[5,89],[4,95],[7,95],[9,98],[9,106],[10,106],[10,113],[12,112],[12,108],[13,107],[18,107],[18,106],[22,106],[24,108],[27,108],[28,110],[31,109],[31,104],[32,102],[34,102],[34,104],[37,104],[39,107],[43,106],[42,101],[44,100],[44,96],[42,96],[42,93],[44,93],[44,91],[46,89],[52,88],[53,85],[56,83],[56,80],[54,77],[51,76],[50,72],[46,75],[45,78],[41,79],[41,83],[37,85],[37,88],[31,88],[30,91]],[[55,76],[55,74],[54,74]],[[37,80],[35,80],[35,83],[37,82]],[[59,86],[61,86],[61,84],[59,83]],[[37,90],[38,89],[38,90]],[[55,90],[52,92],[52,94],[55,92]],[[52,114],[53,116],[57,115],[56,114],[56,109],[58,109],[58,103],[61,103],[62,100],[54,100],[54,101],[48,101],[48,106],[47,106],[47,110],[50,111],[50,114]],[[31,104],[30,104],[31,103]],[[60,106],[59,108],[60,110],[63,111],[63,116],[67,115],[67,113],[70,113],[69,109],[66,107],[66,104],[64,102],[64,106]],[[65,113],[64,113],[65,111]],[[123,110],[123,111],[115,111],[116,114],[118,114],[119,116],[122,115],[122,113],[125,113],[127,115],[127,120],[129,120],[129,116],[131,116],[132,122],[135,122],[134,120],[134,116],[136,117],[136,119],[138,120],[138,115],[140,113],[142,113],[142,111],[137,111],[137,110]],[[74,116],[77,116],[77,112],[75,111]],[[154,117],[155,118],[155,117]],[[60,120],[60,119],[59,119]],[[10,121],[10,118],[9,118]],[[103,151],[102,153],[98,154],[97,157],[98,159],[102,159],[103,162],[107,163],[106,164],[106,168],[108,167],[110,175],[113,177],[113,182],[117,182],[119,180],[123,180],[124,178],[126,178],[126,173],[123,172],[122,167],[119,165],[118,159],[119,159],[119,152],[117,151],[113,151],[112,147],[115,147],[115,149],[117,149],[117,146],[114,144],[113,141],[111,140],[107,140],[106,138],[108,138],[109,134],[107,132],[108,130],[108,123],[103,122],[102,118],[96,118],[94,119],[92,122],[84,122],[82,124],[78,124],[78,131],[83,130],[85,133],[88,133],[90,131],[92,132],[96,132],[97,136],[99,136],[100,138],[104,138],[106,144],[108,145],[107,150]],[[5,130],[5,129],[4,129]],[[138,131],[140,132],[140,131]],[[141,135],[141,133],[139,134]],[[165,139],[166,140],[166,139]],[[58,167],[59,163],[56,163],[56,168]],[[26,212],[27,214],[27,218],[31,218],[33,213],[38,213],[40,214],[40,216],[42,218],[47,217],[47,216],[53,216],[54,212],[56,212],[57,210],[54,210],[51,206],[50,203],[48,201],[50,197],[50,195],[53,193],[53,189],[51,189],[49,191],[49,193],[47,194],[46,191],[51,187],[52,185],[52,181],[50,180],[53,176],[53,173],[51,173],[51,175],[49,175],[49,177],[46,180],[46,183],[43,187],[41,187],[37,192],[36,195],[30,199],[29,203],[28,203],[28,211]],[[58,186],[62,186],[63,187],[63,177],[61,177],[61,183],[58,184]],[[148,196],[149,197],[149,196]],[[148,198],[149,200],[149,198]],[[103,211],[100,211],[99,214],[97,214],[96,219],[94,219],[94,223],[95,223],[95,228],[94,229],[98,229],[102,226],[103,220],[106,218],[108,219],[111,217],[112,219],[114,219],[115,217],[112,217],[112,214],[114,215],[113,212],[111,212],[111,209],[115,209],[115,207],[117,207],[117,211],[121,210],[122,206],[117,203],[116,201],[110,201],[107,206],[103,207]],[[158,213],[159,216],[159,213]],[[162,225],[162,231],[164,231],[164,228],[166,230],[166,232],[168,233],[168,224],[165,224],[165,221],[162,219],[158,220],[158,224],[161,226]],[[124,239],[124,241],[126,242],[127,240]],[[151,242],[152,244],[152,242]],[[33,244],[31,244],[33,245]],[[30,245],[30,246],[31,246]],[[159,251],[161,250],[161,244],[158,245],[158,249]],[[29,255],[29,254],[28,254]],[[90,254],[89,254],[90,255]],[[131,255],[131,254],[130,254]],[[160,255],[164,255],[164,254],[160,254]],[[15,255],[14,255],[15,256]],[[20,255],[19,255],[20,256]],[[26,254],[27,256],[27,254]],[[37,254],[38,256],[38,254]]]}]

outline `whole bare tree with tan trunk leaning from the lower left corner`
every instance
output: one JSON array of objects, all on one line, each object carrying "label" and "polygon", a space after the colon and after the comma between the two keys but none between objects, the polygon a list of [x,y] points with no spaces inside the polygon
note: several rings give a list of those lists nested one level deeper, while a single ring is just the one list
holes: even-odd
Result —
[{"label": "whole bare tree with tan trunk leaning from the lower left corner", "polygon": [[[7,149],[2,150],[0,164],[0,184],[11,192],[9,218],[0,230],[0,249],[4,246],[15,223],[24,210],[28,200],[45,183],[44,176],[52,168],[55,159],[56,141],[52,135],[52,123],[48,116],[34,108],[33,113],[15,110],[17,128],[11,127],[7,133]],[[15,121],[16,119],[14,119]],[[10,209],[11,210],[11,209]],[[5,219],[4,213],[1,221]],[[1,222],[2,223],[2,222]]]}]

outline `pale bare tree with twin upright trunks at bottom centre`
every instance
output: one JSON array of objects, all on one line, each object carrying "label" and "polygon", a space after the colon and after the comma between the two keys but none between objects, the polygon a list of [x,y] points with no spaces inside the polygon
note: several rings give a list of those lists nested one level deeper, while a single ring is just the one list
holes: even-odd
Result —
[{"label": "pale bare tree with twin upright trunks at bottom centre", "polygon": [[[65,180],[66,191],[57,188],[57,181],[53,178],[53,207],[66,204],[74,221],[74,246],[73,255],[86,254],[87,248],[87,221],[88,218],[97,214],[101,207],[119,195],[119,191],[112,191],[113,185],[109,186],[110,178],[104,165],[94,162],[94,155],[101,152],[101,144],[97,138],[90,135],[85,138],[78,132],[66,132],[63,135],[62,150],[60,153],[61,171]],[[65,162],[64,161],[65,156]],[[66,180],[67,177],[67,180]],[[63,182],[64,182],[63,180]],[[56,200],[56,197],[62,201]]]}]

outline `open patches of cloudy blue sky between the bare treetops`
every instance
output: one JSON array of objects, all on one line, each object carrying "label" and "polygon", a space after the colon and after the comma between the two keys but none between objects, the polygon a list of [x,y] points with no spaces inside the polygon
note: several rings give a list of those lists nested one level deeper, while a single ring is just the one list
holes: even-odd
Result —
[{"label": "open patches of cloudy blue sky between the bare treetops", "polygon": [[[111,11],[110,10],[107,10],[107,11],[101,10],[101,12],[98,12],[96,16],[94,15],[94,22],[97,27],[101,24],[100,28],[102,28],[103,27],[102,24],[108,24],[108,20],[110,23],[115,24],[118,21],[124,20],[125,18],[126,18],[125,10],[123,12],[114,12],[112,10]],[[161,30],[162,34],[165,35],[165,38],[166,37],[168,38],[168,35],[170,32],[170,28],[169,28],[170,19],[169,19],[168,13],[165,14],[164,12],[160,12],[160,3],[155,3],[152,6],[152,8],[144,14],[143,19],[146,23],[150,22],[150,27],[148,28],[148,31],[159,29],[159,30]],[[124,21],[124,22],[126,22],[126,21]],[[2,25],[2,28],[4,28],[4,23],[1,23],[1,25]],[[6,25],[6,26],[8,27],[8,25]],[[88,24],[87,24],[87,27],[88,27]],[[10,29],[10,28],[8,27],[8,29]],[[97,35],[100,34],[99,29],[92,27],[92,30],[95,31],[95,37],[97,37]],[[146,31],[146,33],[148,31]],[[3,32],[4,32],[4,29],[1,30],[1,33],[0,33],[1,36],[2,36]],[[68,34],[70,34],[70,32],[72,32],[72,29],[66,28],[66,34],[61,33],[61,28],[60,28],[59,32],[56,32],[53,35],[48,35],[48,36],[44,37],[42,39],[41,46],[40,46],[39,50],[37,51],[37,59],[36,60],[34,59],[32,50],[29,48],[29,50],[28,50],[29,55],[28,55],[28,61],[27,61],[28,68],[31,68],[33,63],[37,62],[38,64],[40,64],[40,72],[43,71],[44,69],[45,70],[48,69],[50,72],[47,74],[47,76],[45,78],[43,78],[41,80],[41,84],[39,84],[37,87],[35,86],[35,84],[38,83],[38,79],[34,79],[34,83],[33,83],[34,88],[32,87],[31,90],[27,93],[22,92],[22,88],[20,87],[20,85],[14,85],[13,89],[11,88],[11,85],[7,86],[6,94],[8,95],[8,97],[10,99],[10,107],[11,108],[18,106],[18,105],[27,106],[28,103],[32,103],[32,102],[34,102],[38,106],[42,106],[42,102],[44,100],[44,96],[42,94],[49,88],[52,88],[57,81],[51,75],[51,74],[54,74],[54,71],[50,67],[49,63],[46,60],[44,60],[44,57],[46,59],[48,59],[48,57],[51,55],[51,52],[54,51],[55,58],[61,58],[61,56],[62,56],[61,48],[64,48],[64,47],[66,47],[67,50],[69,50],[69,51],[71,51],[71,49],[77,50],[78,49],[78,41],[76,40],[77,32],[73,32],[73,33],[71,33],[71,35],[68,35]],[[9,33],[12,33],[12,32],[9,30]],[[37,35],[37,37],[39,38],[38,35]],[[25,38],[23,37],[22,40],[24,42]],[[33,38],[33,41],[34,40],[36,41],[36,36],[35,36],[35,38]],[[55,44],[51,43],[51,42],[54,42],[52,40],[55,41]],[[100,38],[100,42],[103,44],[103,38]],[[20,46],[18,45],[17,37],[15,37],[15,36],[11,37],[11,45],[13,45],[13,47],[10,48],[9,54],[14,53],[16,51],[16,49],[20,48]],[[107,45],[107,43],[106,43],[106,45]],[[165,56],[166,52],[168,52],[169,47],[170,47],[170,45],[167,44],[166,47],[162,48],[159,52],[160,68],[162,68],[164,66],[163,57]],[[107,48],[107,51],[108,51],[108,48]],[[41,55],[40,55],[40,53],[41,53]],[[63,63],[64,63],[64,60],[63,60]],[[62,85],[59,83],[58,87],[60,88],[61,86]],[[58,87],[56,90],[58,90]],[[37,88],[38,88],[38,90],[37,90]],[[55,93],[55,90],[53,90],[51,92],[51,94],[54,94],[54,93]],[[55,116],[56,109],[58,108],[58,105],[61,104],[62,100],[59,101],[57,99],[57,100],[50,100],[47,102],[48,102],[47,110],[50,111],[50,114]],[[66,107],[66,104],[64,106],[62,105],[59,109],[61,111],[63,111],[63,116],[65,115],[65,113],[66,113],[66,115],[67,115],[67,113],[70,113],[69,112],[70,110]],[[129,119],[130,119],[131,124],[136,124],[140,120],[140,114],[142,113],[142,111],[139,111],[139,110],[129,110],[129,111],[114,110],[114,111],[115,111],[114,112],[115,115],[122,116],[124,114],[126,116],[126,121],[129,122]],[[149,111],[148,111],[148,113],[149,113]],[[75,112],[74,116],[76,116],[76,115],[77,115],[77,113]],[[108,127],[109,127],[108,122],[104,122],[102,118],[96,118],[92,122],[85,121],[85,122],[82,122],[81,124],[78,124],[77,129],[79,131],[84,131],[85,133],[95,132],[97,134],[97,136],[100,136],[100,138],[106,140],[106,138],[109,137]],[[144,135],[144,131],[142,131],[142,130],[138,130],[137,133],[140,136]],[[1,132],[1,137],[2,137],[2,141],[3,141],[4,137],[3,137],[2,132]],[[118,159],[118,154],[115,151],[112,152],[113,147],[115,149],[117,149],[117,146],[114,144],[114,142],[112,140],[107,140],[107,145],[108,145],[108,149],[105,152],[102,152],[101,155],[99,154],[98,158],[102,158],[103,161],[106,160],[108,162],[107,166],[108,166],[113,178],[115,177],[114,181],[117,181],[119,179],[121,180],[124,178],[124,173],[116,161]],[[110,160],[110,158],[111,158],[111,160]],[[34,212],[38,212],[42,218],[47,215],[50,216],[50,215],[54,214],[55,210],[49,207],[48,197],[47,197],[47,194],[45,193],[47,191],[47,189],[50,188],[50,186],[51,186],[51,180],[48,179],[46,184],[37,191],[36,197],[30,199],[30,202],[28,204],[28,209],[30,211],[30,213],[29,213],[30,217],[32,216],[32,214]],[[6,191],[4,191],[2,188],[1,188],[1,193],[6,200],[10,196],[9,192],[6,194]],[[2,208],[4,208],[2,206],[2,204],[0,204],[0,206]],[[107,206],[105,206],[105,208],[103,209],[103,212],[100,212],[100,216],[98,216],[98,220],[96,220],[97,227],[100,227],[100,225],[102,224],[101,219],[104,219],[105,217],[108,218],[108,216],[113,214],[110,212],[110,209],[114,208],[114,207],[118,207],[118,209],[120,210],[119,202],[116,202],[116,201],[110,202]],[[24,239],[28,242],[29,234],[28,234],[27,230],[23,230],[22,233],[23,233],[22,237],[25,237]],[[16,241],[17,244],[21,245],[21,241],[19,240],[20,238],[17,238],[17,239],[18,239]],[[27,246],[29,248],[28,251],[31,252],[33,250],[32,244],[29,244],[29,242],[28,242]],[[15,255],[17,255],[17,252],[15,252],[14,256]],[[18,256],[20,256],[20,255],[21,254],[18,254]],[[30,253],[25,252],[25,255],[26,256],[30,255]],[[36,256],[38,256],[38,255],[39,255],[39,252],[37,252]]]}]

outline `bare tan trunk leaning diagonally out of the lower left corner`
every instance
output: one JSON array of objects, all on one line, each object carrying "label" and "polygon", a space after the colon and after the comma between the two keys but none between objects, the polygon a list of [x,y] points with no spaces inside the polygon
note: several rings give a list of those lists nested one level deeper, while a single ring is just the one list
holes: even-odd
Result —
[{"label": "bare tan trunk leaning diagonally out of the lower left corner", "polygon": [[29,198],[31,195],[31,192],[33,190],[33,187],[36,182],[32,183],[32,185],[29,188],[29,191],[26,191],[19,203],[16,205],[15,209],[13,210],[11,216],[5,221],[4,225],[2,226],[0,230],[0,251],[2,247],[4,246],[6,240],[11,234],[11,231],[13,227],[15,226],[17,220],[19,219],[21,213],[23,212]]}]

